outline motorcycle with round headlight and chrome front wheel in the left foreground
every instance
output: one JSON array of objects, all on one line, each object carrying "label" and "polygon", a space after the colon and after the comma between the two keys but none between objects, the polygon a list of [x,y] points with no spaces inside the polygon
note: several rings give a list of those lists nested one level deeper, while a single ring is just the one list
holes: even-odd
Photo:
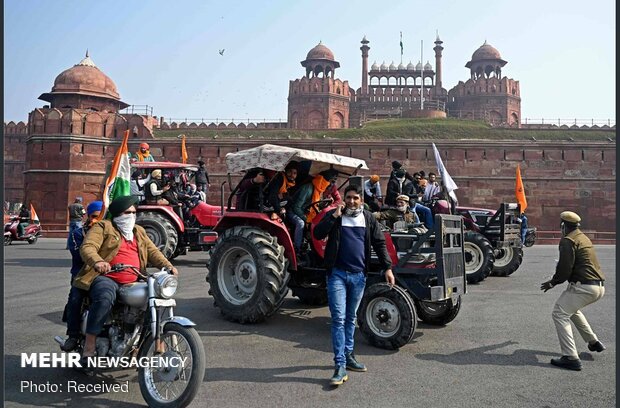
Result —
[{"label": "motorcycle with round headlight and chrome front wheel in the left foreground", "polygon": [[[193,327],[195,323],[174,315],[177,277],[166,269],[145,276],[138,268],[124,264],[113,265],[111,272],[122,270],[132,271],[138,281],[119,288],[117,301],[97,337],[97,357],[176,361],[176,365],[138,365],[138,383],[148,406],[185,407],[194,399],[203,381],[206,357],[200,336]],[[84,348],[88,306],[86,297],[81,335],[74,350],[80,353]],[[66,341],[61,336],[54,340],[60,346]],[[181,361],[183,364],[179,363]]]}]

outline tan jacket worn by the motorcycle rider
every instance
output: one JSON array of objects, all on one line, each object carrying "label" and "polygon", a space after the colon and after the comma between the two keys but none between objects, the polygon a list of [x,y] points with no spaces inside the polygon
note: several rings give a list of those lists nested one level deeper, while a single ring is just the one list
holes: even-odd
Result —
[{"label": "tan jacket worn by the motorcycle rider", "polygon": [[[146,270],[147,265],[156,268],[172,268],[166,257],[157,249],[142,228],[136,225],[133,229],[134,237],[138,245],[139,266],[141,271]],[[121,246],[121,233],[114,228],[109,220],[100,221],[88,230],[84,242],[80,247],[80,255],[84,260],[84,266],[75,277],[73,286],[78,289],[88,290],[90,284],[99,273],[94,266],[97,262],[110,262],[118,253]]]}]

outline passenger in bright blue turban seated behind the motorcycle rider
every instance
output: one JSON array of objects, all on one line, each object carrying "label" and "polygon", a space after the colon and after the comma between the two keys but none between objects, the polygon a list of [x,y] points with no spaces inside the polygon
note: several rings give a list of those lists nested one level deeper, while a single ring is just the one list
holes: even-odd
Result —
[{"label": "passenger in bright blue turban seated behind the motorcycle rider", "polygon": [[[82,266],[84,266],[84,261],[80,256],[80,247],[82,246],[82,242],[84,241],[84,235],[90,229],[90,226],[97,220],[99,217],[99,213],[101,212],[101,208],[103,206],[102,201],[93,201],[88,204],[86,207],[86,215],[88,219],[86,220],[86,224],[81,227],[74,229],[69,233],[68,247],[69,252],[71,252],[71,285],[73,285],[73,280],[75,276],[78,274]],[[82,302],[84,298],[88,295],[88,292],[82,289],[78,289],[75,286],[71,286],[71,290],[69,291],[69,298],[67,300],[67,305],[65,306],[65,311],[63,313],[63,322],[67,323],[67,335],[69,338],[65,341],[60,348],[63,351],[72,351],[78,346],[78,338],[80,335],[80,317],[81,317],[81,309]]]}]

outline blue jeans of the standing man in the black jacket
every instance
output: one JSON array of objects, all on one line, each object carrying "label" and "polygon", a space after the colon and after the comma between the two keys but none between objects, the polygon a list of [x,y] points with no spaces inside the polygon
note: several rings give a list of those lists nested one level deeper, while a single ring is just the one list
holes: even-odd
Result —
[{"label": "blue jeans of the standing man in the black jacket", "polygon": [[346,272],[336,267],[327,276],[327,299],[332,316],[332,347],[336,367],[346,365],[345,354],[353,353],[357,309],[364,296],[364,272]]}]

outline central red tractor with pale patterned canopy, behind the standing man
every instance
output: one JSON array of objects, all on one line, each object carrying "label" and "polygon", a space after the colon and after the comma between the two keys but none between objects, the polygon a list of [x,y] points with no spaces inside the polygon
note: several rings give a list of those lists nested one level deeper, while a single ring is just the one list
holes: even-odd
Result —
[{"label": "central red tractor with pale patterned canopy, behind the standing man", "polygon": [[[300,162],[307,175],[335,169],[347,176],[345,184],[362,185],[362,178],[354,174],[367,169],[363,160],[275,145],[226,156],[229,174],[256,168],[281,171],[290,161]],[[297,179],[303,178],[302,172]],[[324,200],[310,204],[318,206],[319,213],[305,231],[299,259],[288,226],[270,218],[262,193],[258,210],[232,208],[238,188],[233,189],[228,210],[215,226],[218,238],[206,277],[215,306],[228,320],[255,323],[278,310],[289,288],[302,302],[325,304],[326,241],[316,240],[311,232],[332,207],[321,210]],[[374,256],[370,260],[358,323],[368,341],[378,347],[399,348],[412,339],[418,318],[445,325],[461,307],[466,290],[462,217],[441,214],[436,216],[434,230],[420,232],[416,227],[402,222],[384,232],[397,281],[393,289],[384,283]]]}]

